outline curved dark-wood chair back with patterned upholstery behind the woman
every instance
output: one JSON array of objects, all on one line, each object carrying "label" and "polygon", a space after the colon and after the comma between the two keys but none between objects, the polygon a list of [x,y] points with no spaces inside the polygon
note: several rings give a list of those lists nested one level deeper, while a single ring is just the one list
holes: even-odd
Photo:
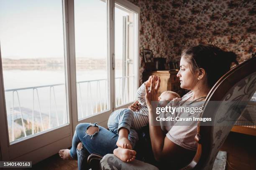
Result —
[{"label": "curved dark-wood chair back with patterned upholstery behind the woman", "polygon": [[[256,57],[242,62],[216,82],[207,95],[195,140],[197,153],[183,169],[211,170],[220,147],[256,91]],[[220,102],[221,101],[221,102]]]}]

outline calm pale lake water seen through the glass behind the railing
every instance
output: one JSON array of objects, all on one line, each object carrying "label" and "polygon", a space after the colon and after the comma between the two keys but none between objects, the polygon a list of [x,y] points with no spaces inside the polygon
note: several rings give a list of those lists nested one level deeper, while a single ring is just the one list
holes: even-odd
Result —
[{"label": "calm pale lake water seen through the glass behind the railing", "polygon": [[[119,72],[119,75],[117,76],[121,76],[120,72]],[[4,78],[5,90],[65,83],[64,71],[61,71],[61,70],[5,70],[3,72],[3,78]],[[107,79],[107,72],[105,70],[77,71],[77,82],[99,80],[99,79]],[[83,94],[88,90],[87,84],[88,83],[82,83],[80,86],[81,92]],[[96,82],[92,82],[91,84],[92,97],[96,95],[94,93],[96,90],[96,86],[97,86]],[[105,82],[100,81],[100,89],[101,89],[101,95],[104,95]],[[56,86],[54,87],[54,90],[55,90],[57,110],[58,112],[63,112],[63,108],[64,108],[63,104],[65,99],[64,85]],[[19,90],[18,93],[19,93],[21,107],[32,109],[33,89]],[[39,95],[39,100],[41,104],[41,110],[43,112],[49,112],[50,87],[38,88],[38,95]],[[53,89],[51,89],[52,101],[54,99],[53,95],[54,95]],[[14,97],[15,97],[14,98],[15,106],[18,106],[18,97],[16,93],[14,94]],[[79,94],[77,95],[77,97],[80,97]],[[36,91],[34,94],[34,98],[35,98],[34,100],[35,107],[38,107]],[[13,107],[13,92],[5,92],[5,100],[6,100],[7,110],[9,110],[8,113],[10,113],[10,110],[12,110],[12,107]],[[55,105],[55,103],[52,102],[51,105]],[[38,110],[38,108],[35,108],[35,109]]]}]

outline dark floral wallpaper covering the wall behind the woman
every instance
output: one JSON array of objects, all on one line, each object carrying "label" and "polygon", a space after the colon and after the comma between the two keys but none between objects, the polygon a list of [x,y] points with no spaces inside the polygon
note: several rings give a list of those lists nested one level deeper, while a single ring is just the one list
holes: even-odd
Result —
[{"label": "dark floral wallpaper covering the wall behind the woman", "polygon": [[178,61],[183,49],[213,43],[240,55],[256,52],[255,0],[129,0],[141,8],[140,53]]}]

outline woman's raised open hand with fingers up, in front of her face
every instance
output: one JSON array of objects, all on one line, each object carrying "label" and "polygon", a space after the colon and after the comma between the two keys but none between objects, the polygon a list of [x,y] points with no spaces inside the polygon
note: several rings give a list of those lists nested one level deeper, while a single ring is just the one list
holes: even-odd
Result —
[{"label": "woman's raised open hand with fingers up, in front of her face", "polygon": [[148,91],[148,85],[147,83],[145,84],[146,86],[146,103],[148,106],[148,110],[152,110],[154,109],[154,107],[156,107],[155,105],[152,105],[152,102],[154,101],[154,104],[157,104],[158,102],[158,90],[160,87],[160,77],[157,77],[156,75],[154,75],[151,78],[151,83],[150,83],[150,90]]}]

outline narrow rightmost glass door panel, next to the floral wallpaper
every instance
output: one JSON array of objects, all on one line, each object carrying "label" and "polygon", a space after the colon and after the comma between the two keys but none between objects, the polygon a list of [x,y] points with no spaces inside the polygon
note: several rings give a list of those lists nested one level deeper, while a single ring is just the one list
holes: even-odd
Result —
[{"label": "narrow rightmost glass door panel, next to the floral wallpaper", "polygon": [[115,107],[127,107],[138,88],[136,13],[115,4]]}]

